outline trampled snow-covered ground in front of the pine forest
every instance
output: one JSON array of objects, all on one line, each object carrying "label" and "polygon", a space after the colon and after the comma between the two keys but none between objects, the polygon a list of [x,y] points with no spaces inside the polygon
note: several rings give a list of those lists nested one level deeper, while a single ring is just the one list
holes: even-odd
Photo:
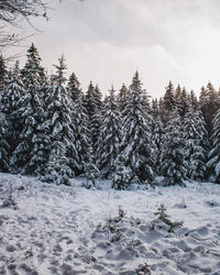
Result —
[{"label": "trampled snow-covered ground in front of the pine forest", "polygon": [[[80,185],[0,174],[0,274],[220,274],[220,185]],[[155,220],[161,204],[182,228]]]}]

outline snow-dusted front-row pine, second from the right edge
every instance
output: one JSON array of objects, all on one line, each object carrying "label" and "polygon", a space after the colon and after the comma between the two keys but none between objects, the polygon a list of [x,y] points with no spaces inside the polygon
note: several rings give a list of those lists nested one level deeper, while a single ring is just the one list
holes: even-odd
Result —
[{"label": "snow-dusted front-row pine, second from the right edge", "polygon": [[187,151],[187,177],[202,180],[207,175],[208,133],[200,111],[190,108],[186,113],[184,138]]}]

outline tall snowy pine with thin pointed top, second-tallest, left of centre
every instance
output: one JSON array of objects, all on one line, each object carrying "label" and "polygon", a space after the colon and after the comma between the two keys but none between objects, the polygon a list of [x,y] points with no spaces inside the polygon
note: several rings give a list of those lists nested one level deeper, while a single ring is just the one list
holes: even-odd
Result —
[{"label": "tall snowy pine with thin pointed top, second-tallest, left of centre", "polygon": [[[53,77],[53,85],[47,91],[47,124],[50,128],[51,153],[46,166],[45,177],[42,180],[67,184],[67,179],[74,176],[70,164],[74,162],[72,156],[77,155],[75,147],[75,135],[72,120],[72,100],[64,87],[64,70],[66,65],[64,56],[55,65],[56,75]],[[67,157],[67,152],[69,157]]]}]

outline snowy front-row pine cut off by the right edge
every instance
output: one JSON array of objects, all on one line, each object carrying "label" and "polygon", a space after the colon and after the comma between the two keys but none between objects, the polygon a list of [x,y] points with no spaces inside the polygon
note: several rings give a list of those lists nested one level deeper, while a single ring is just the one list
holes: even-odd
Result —
[{"label": "snowy front-row pine cut off by the right edge", "polygon": [[216,183],[220,184],[220,110],[213,119],[212,150],[209,153],[208,166],[215,174]]}]

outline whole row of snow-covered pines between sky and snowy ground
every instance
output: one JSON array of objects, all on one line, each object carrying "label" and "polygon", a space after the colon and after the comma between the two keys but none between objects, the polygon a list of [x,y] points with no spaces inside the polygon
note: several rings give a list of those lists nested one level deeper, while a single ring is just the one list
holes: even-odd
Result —
[{"label": "whole row of snow-covered pines between sky and snowy ground", "polygon": [[139,72],[102,99],[91,81],[86,92],[62,56],[48,76],[34,44],[26,63],[11,69],[0,57],[0,170],[69,184],[84,176],[131,184],[220,183],[220,92],[209,82],[197,98],[169,81],[160,99],[143,89]]}]

